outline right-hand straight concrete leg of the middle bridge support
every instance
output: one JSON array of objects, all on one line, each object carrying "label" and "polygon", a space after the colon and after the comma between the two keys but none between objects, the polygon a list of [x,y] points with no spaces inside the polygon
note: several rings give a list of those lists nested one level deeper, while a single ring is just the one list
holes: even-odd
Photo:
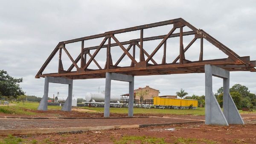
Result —
[{"label": "right-hand straight concrete leg of the middle bridge support", "polygon": [[129,82],[129,104],[128,104],[128,116],[133,117],[133,107],[134,107],[134,76],[132,81]]}]

